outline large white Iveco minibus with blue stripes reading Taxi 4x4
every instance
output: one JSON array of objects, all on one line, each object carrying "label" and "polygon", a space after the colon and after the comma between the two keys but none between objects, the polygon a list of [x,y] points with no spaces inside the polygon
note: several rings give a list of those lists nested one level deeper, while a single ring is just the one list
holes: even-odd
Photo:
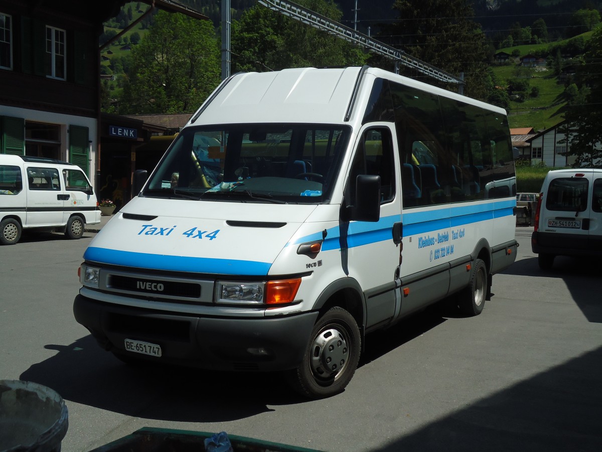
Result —
[{"label": "large white Iveco minibus with blue stripes reading Taxi 4x4", "polygon": [[371,67],[235,74],[92,240],[76,320],[125,362],[343,391],[365,334],[515,260],[500,108]]}]

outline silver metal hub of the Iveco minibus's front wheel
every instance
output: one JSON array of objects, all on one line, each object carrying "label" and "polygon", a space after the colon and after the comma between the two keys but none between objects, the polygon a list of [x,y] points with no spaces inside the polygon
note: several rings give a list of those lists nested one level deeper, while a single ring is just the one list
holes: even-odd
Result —
[{"label": "silver metal hub of the Iveco minibus's front wheel", "polygon": [[349,347],[343,335],[335,330],[324,330],[312,344],[311,367],[317,377],[332,377],[341,372],[349,359]]}]

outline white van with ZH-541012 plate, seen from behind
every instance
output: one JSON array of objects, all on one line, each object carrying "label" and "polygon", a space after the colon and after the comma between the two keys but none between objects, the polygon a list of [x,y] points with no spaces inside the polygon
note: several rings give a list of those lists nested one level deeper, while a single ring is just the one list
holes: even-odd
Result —
[{"label": "white van with ZH-541012 plate, seen from behind", "polygon": [[548,172],[531,248],[542,269],[550,269],[556,256],[602,256],[602,169]]}]

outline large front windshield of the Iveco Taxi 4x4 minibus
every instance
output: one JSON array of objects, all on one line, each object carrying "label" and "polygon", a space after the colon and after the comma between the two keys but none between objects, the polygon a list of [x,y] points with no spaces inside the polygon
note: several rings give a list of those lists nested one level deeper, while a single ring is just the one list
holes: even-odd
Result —
[{"label": "large front windshield of the Iveco Taxi 4x4 minibus", "polygon": [[184,128],[143,194],[210,201],[326,202],[349,131],[303,124]]}]

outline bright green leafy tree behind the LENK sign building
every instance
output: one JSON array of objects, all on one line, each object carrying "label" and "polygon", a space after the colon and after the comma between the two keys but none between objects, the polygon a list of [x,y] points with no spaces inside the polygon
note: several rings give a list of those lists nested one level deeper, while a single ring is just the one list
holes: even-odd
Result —
[{"label": "bright green leafy tree behind the LENK sign building", "polygon": [[193,112],[220,82],[213,24],[159,11],[126,75],[120,114]]}]

